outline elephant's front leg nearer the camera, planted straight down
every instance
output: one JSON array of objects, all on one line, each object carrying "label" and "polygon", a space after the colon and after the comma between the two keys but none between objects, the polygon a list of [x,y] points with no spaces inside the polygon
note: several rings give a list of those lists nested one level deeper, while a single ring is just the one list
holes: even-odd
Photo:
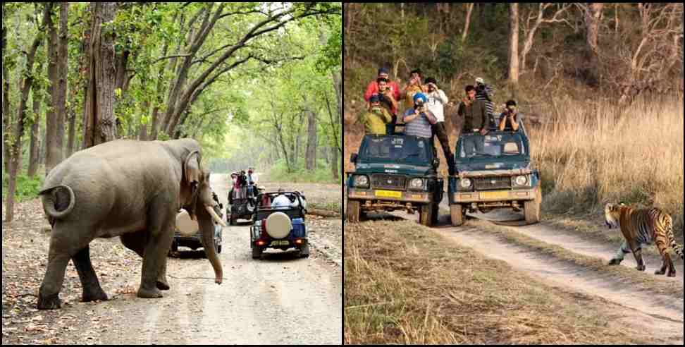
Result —
[{"label": "elephant's front leg nearer the camera, planted straight down", "polygon": [[166,260],[173,241],[173,204],[161,198],[152,202],[148,214],[148,236],[145,243],[142,279],[138,289],[140,298],[161,298],[158,288],[168,287],[166,281]]}]

